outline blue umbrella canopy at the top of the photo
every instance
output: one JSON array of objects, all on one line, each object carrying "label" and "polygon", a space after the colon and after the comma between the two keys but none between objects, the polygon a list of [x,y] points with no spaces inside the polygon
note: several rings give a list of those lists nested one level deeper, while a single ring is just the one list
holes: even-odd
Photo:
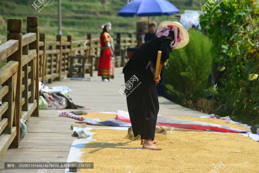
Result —
[{"label": "blue umbrella canopy at the top of the photo", "polygon": [[162,16],[180,12],[179,9],[166,0],[128,0],[127,2],[128,4],[118,12],[119,16]]}]

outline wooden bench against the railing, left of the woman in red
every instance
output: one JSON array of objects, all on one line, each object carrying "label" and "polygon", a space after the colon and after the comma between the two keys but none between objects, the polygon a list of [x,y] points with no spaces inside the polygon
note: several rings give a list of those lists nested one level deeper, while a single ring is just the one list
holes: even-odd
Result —
[{"label": "wooden bench against the railing, left of the woman in red", "polygon": [[[93,76],[93,58],[95,58],[96,55],[77,55],[68,57],[70,58],[69,77],[73,77],[73,74],[85,77],[85,73],[90,73],[90,76]],[[75,60],[77,60],[77,62],[75,62]],[[87,68],[88,71],[86,71]],[[78,72],[76,72],[77,70]]]}]

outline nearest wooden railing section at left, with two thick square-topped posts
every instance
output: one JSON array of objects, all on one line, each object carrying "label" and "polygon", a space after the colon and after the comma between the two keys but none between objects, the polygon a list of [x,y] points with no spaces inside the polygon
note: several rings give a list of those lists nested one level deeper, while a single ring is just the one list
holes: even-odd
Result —
[{"label": "nearest wooden railing section at left, with two thick square-topped posts", "polygon": [[22,35],[22,19],[7,19],[7,42],[0,47],[0,158],[20,143],[20,118],[39,116],[39,23],[27,17],[27,32]]}]

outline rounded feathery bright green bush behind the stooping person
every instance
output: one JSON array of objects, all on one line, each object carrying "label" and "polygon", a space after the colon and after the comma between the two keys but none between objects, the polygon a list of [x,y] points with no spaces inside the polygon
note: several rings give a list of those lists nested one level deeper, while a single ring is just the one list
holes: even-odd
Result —
[{"label": "rounded feathery bright green bush behind the stooping person", "polygon": [[212,70],[212,41],[196,30],[189,31],[189,36],[190,41],[185,47],[170,53],[169,68],[163,75],[166,93],[181,105],[203,96]]}]

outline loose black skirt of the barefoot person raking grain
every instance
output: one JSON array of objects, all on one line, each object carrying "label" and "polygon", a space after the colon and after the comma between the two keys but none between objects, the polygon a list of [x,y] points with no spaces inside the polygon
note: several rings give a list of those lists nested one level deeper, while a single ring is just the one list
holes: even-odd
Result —
[{"label": "loose black skirt of the barefoot person raking grain", "polygon": [[124,79],[133,134],[154,140],[159,102],[150,67],[146,70],[127,70]]}]

